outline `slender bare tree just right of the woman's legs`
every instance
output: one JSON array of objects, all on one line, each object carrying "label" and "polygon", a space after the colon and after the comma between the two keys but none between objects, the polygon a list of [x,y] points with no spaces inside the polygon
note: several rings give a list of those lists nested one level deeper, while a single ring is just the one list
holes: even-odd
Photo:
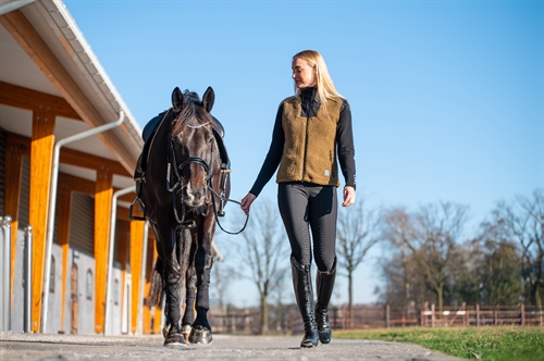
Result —
[{"label": "slender bare tree just right of the woman's legs", "polygon": [[357,203],[343,208],[338,214],[336,257],[338,274],[348,281],[349,322],[353,324],[354,309],[354,272],[362,263],[368,251],[379,240],[378,227],[380,217],[378,211],[369,210],[364,199],[359,197]]}]

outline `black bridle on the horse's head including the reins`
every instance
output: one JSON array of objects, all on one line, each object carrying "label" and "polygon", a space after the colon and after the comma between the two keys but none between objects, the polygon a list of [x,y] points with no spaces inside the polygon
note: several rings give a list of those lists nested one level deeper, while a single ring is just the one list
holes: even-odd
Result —
[{"label": "black bridle on the horse's head including the reins", "polygon": [[[199,125],[186,125],[187,127],[190,127],[190,128],[200,128],[205,125],[207,125],[208,123],[203,123],[203,124],[199,124]],[[219,227],[221,228],[221,231],[223,231],[224,233],[227,233],[230,235],[237,235],[239,233],[242,233],[245,228],[246,228],[246,225],[247,225],[247,222],[249,220],[249,214],[246,216],[246,221],[244,223],[244,226],[242,227],[240,231],[238,232],[228,232],[228,231],[225,231],[223,228],[223,226],[221,225],[221,223],[219,222],[219,216],[218,216],[218,210],[217,210],[217,207],[215,207],[215,197],[218,197],[220,200],[224,201],[224,202],[234,202],[234,203],[237,203],[237,204],[240,204],[240,202],[236,201],[236,200],[233,200],[233,199],[228,199],[226,197],[223,197],[221,196],[215,189],[213,189],[213,186],[212,186],[212,170],[211,170],[211,166],[210,164],[213,164],[213,153],[217,149],[215,147],[215,141],[213,138],[210,139],[210,163],[208,163],[206,160],[203,160],[202,158],[200,157],[188,157],[183,163],[181,164],[177,164],[177,160],[176,160],[176,157],[175,157],[175,146],[176,146],[176,139],[177,137],[175,135],[172,135],[170,138],[169,138],[169,141],[168,141],[168,150],[166,150],[166,189],[168,191],[170,191],[172,194],[172,207],[173,207],[173,210],[174,210],[174,216],[175,216],[175,220],[177,222],[177,224],[180,225],[180,227],[182,228],[194,228],[196,227],[196,222],[194,220],[189,220],[189,221],[185,221],[185,216],[186,214],[189,212],[189,211],[194,211],[195,209],[191,209],[191,210],[187,210],[187,207],[185,206],[185,202],[183,201],[183,187],[184,187],[184,177],[183,177],[183,170],[187,166],[189,166],[190,164],[198,164],[200,166],[203,167],[203,171],[206,173],[206,177],[205,177],[205,184],[206,184],[206,188],[210,191],[211,194],[211,203],[213,206],[213,214],[215,216],[215,223],[219,225]],[[173,184],[173,185],[172,185]],[[180,196],[182,197],[182,216],[180,217],[180,214],[177,212],[177,198],[176,198],[176,194],[180,194]],[[210,204],[210,201],[208,199],[208,197],[206,198],[206,204],[205,206],[200,206],[198,209],[197,209],[197,213],[199,213],[200,215],[202,216],[207,216],[208,215],[208,211],[209,211],[209,204]]]}]

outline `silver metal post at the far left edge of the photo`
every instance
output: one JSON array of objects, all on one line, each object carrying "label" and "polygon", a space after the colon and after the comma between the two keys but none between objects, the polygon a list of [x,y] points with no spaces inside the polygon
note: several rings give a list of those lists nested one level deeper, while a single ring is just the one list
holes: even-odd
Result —
[{"label": "silver metal post at the far left edge of the photo", "polygon": [[1,216],[0,227],[0,331],[11,331],[11,216]]}]

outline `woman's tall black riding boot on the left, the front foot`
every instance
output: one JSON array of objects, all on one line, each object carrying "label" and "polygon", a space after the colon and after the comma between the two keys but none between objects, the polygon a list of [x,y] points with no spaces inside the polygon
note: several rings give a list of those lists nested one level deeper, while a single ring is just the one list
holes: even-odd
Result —
[{"label": "woman's tall black riding boot on the left, the front foot", "polygon": [[310,266],[300,265],[292,257],[293,287],[297,299],[298,310],[305,323],[305,336],[300,343],[302,347],[318,346],[318,326],[313,316],[313,292],[311,288]]}]

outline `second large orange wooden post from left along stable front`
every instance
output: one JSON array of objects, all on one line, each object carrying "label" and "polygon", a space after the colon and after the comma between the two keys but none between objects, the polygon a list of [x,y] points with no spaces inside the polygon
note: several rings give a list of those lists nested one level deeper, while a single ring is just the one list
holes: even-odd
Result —
[{"label": "second large orange wooden post from left along stable front", "polygon": [[112,174],[97,173],[95,192],[95,332],[104,329],[106,281],[111,228]]}]

